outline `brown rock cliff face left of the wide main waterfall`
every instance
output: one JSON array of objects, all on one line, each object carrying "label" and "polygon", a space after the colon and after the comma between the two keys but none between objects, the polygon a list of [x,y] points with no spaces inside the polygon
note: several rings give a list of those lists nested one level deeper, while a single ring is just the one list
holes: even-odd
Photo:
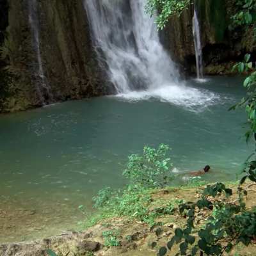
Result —
[{"label": "brown rock cliff face left of the wide main waterfall", "polygon": [[0,68],[11,79],[1,79],[0,111],[109,93],[93,51],[83,1],[9,0],[8,4],[8,28],[1,46],[5,67]]}]

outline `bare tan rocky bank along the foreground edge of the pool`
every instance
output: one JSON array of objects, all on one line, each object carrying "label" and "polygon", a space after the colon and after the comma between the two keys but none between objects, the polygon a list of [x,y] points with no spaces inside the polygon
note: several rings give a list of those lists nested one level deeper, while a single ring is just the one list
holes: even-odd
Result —
[{"label": "bare tan rocky bank along the foreground edge of the pool", "polygon": [[[232,185],[231,188],[236,188]],[[154,191],[151,195],[152,205],[150,211],[161,212],[170,202],[180,200],[196,200],[204,186],[197,188],[167,188]],[[246,205],[255,205],[256,191],[249,191]],[[236,195],[234,195],[236,196]],[[230,198],[233,200],[234,198]],[[204,225],[211,211],[198,212],[195,222]],[[1,256],[49,256],[47,250],[51,249],[58,256],[156,256],[159,246],[164,246],[173,236],[177,227],[182,227],[186,219],[179,215],[174,209],[172,214],[163,214],[156,219],[153,226],[143,223],[134,218],[106,218],[99,221],[93,227],[83,232],[65,232],[59,236],[49,237],[31,242],[0,244]],[[111,234],[115,244],[106,243],[106,234]],[[177,246],[173,247],[172,256],[177,253]],[[237,246],[236,252],[239,255],[254,255],[256,244],[248,247]],[[236,255],[235,251],[229,255]]]}]

